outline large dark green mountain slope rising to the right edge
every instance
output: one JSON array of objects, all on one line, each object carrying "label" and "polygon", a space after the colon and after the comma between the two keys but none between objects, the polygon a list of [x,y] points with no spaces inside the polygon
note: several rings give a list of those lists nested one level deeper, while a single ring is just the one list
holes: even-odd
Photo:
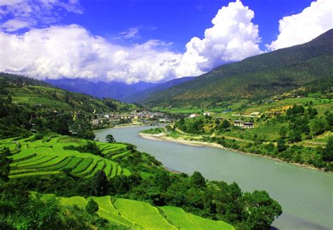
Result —
[{"label": "large dark green mountain slope rising to the right edge", "polygon": [[237,99],[259,100],[285,91],[333,87],[333,29],[306,44],[221,65],[190,82],[151,94],[146,106],[216,106]]}]

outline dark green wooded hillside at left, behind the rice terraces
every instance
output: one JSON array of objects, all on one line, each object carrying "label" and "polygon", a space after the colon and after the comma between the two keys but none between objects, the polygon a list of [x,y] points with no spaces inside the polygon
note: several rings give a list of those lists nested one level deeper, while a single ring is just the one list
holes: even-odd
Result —
[{"label": "dark green wooded hillside at left, behind the rice terraces", "polygon": [[0,138],[33,132],[77,133],[93,138],[93,113],[128,111],[133,105],[58,89],[45,82],[0,73]]}]

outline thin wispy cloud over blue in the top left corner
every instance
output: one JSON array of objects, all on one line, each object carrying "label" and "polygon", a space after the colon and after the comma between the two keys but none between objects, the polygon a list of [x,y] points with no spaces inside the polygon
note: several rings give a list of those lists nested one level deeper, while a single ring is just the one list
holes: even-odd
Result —
[{"label": "thin wispy cloud over blue in the top left corner", "polygon": [[0,26],[6,32],[44,27],[66,12],[82,13],[78,0],[0,0]]}]

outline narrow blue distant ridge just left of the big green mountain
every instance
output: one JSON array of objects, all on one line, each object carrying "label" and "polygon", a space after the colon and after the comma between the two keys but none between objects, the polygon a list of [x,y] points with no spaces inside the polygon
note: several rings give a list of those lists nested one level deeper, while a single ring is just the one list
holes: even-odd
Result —
[{"label": "narrow blue distant ridge just left of the big green mountain", "polygon": [[195,79],[195,77],[181,77],[181,78],[177,78],[177,79],[172,79],[169,82],[157,84],[157,86],[155,86],[155,87],[145,89],[142,91],[138,91],[136,94],[127,96],[126,98],[124,98],[124,102],[127,102],[127,103],[141,102],[141,101],[145,100],[145,98],[150,97],[152,94],[155,94],[159,91],[163,91],[165,89],[169,89],[171,87],[174,87],[177,84],[189,82],[192,79]]}]

